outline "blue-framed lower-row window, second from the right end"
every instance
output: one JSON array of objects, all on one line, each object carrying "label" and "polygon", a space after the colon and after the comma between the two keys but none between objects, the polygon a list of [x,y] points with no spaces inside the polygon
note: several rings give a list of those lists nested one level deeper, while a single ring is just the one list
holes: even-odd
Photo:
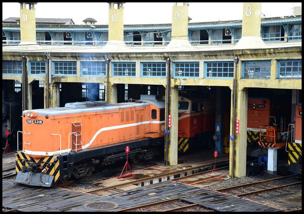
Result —
[{"label": "blue-framed lower-row window, second from the right end", "polygon": [[271,61],[244,61],[243,78],[270,79]]}]

